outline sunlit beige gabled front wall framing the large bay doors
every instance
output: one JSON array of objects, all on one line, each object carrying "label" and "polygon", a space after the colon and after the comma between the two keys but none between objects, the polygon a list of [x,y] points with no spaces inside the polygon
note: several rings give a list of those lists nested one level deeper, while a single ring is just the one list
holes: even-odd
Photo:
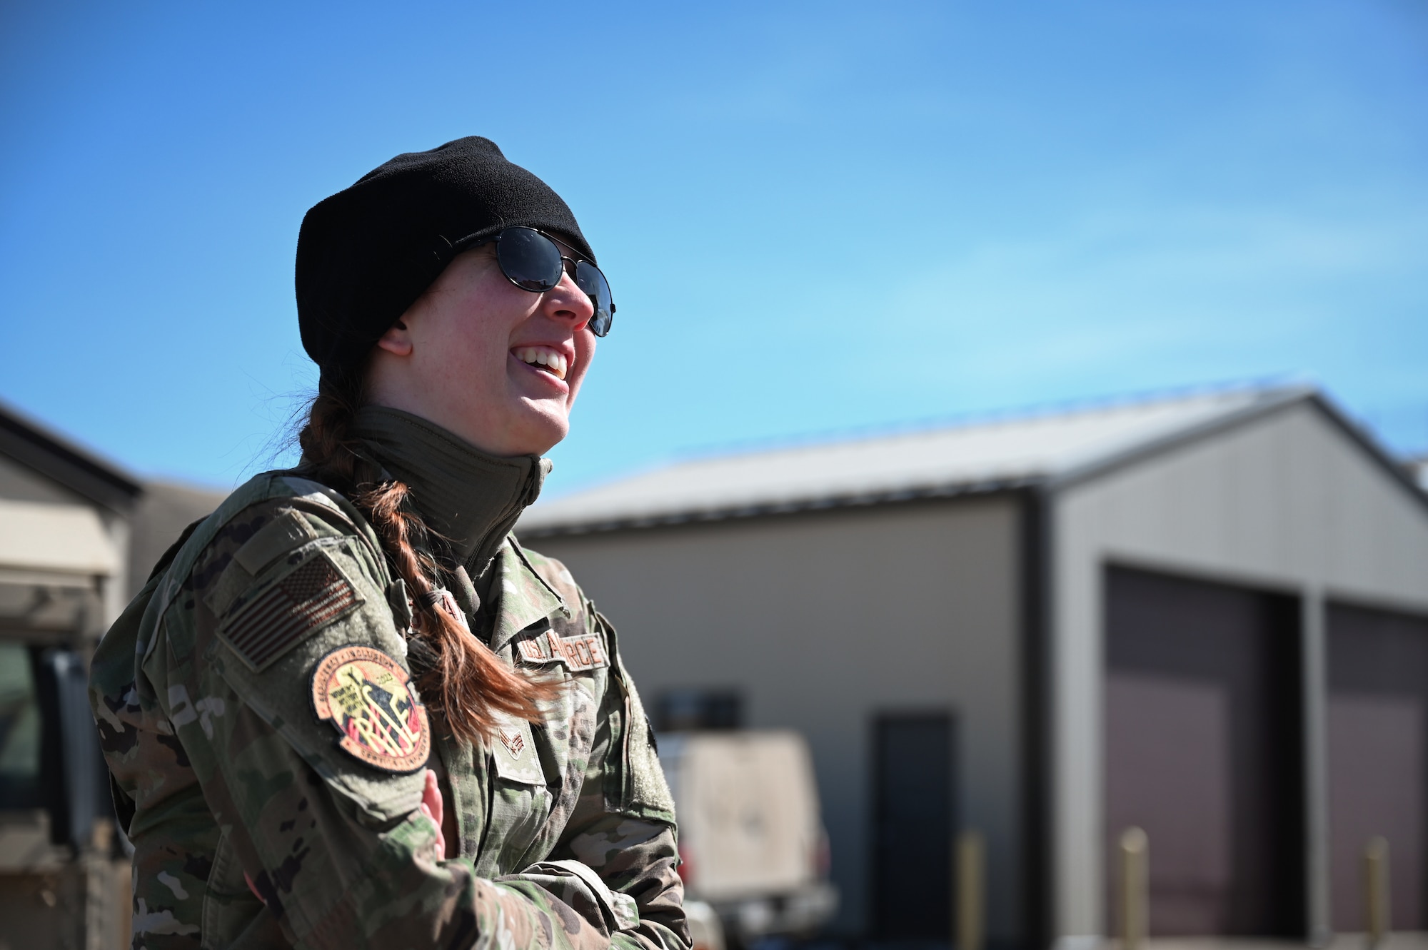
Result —
[{"label": "sunlit beige gabled front wall framing the large bay doors", "polygon": [[[1311,404],[1065,489],[1052,515],[1055,929],[1102,934],[1107,562],[1301,596],[1309,904],[1327,926],[1324,602],[1428,612],[1428,508]],[[1154,846],[1152,846],[1154,847]],[[1075,946],[1075,944],[1071,944]]]}]

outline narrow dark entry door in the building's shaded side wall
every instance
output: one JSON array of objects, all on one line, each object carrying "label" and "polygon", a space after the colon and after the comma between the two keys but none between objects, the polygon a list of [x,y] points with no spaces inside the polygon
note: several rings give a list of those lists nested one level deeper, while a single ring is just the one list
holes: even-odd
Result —
[{"label": "narrow dark entry door in the building's shaded side wall", "polygon": [[952,717],[874,726],[873,923],[891,940],[947,940],[952,893]]}]

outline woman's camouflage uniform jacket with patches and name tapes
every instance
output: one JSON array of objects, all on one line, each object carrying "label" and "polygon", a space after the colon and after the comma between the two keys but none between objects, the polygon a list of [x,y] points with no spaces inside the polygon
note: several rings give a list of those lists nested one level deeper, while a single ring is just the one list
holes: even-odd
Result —
[{"label": "woman's camouflage uniform jacket with patches and name tapes", "polygon": [[[514,536],[493,569],[490,646],[565,688],[473,747],[406,685],[410,602],[346,498],[268,472],[193,532],[90,678],[134,947],[688,947],[673,802],[614,629]],[[418,809],[427,749],[450,859]]]}]

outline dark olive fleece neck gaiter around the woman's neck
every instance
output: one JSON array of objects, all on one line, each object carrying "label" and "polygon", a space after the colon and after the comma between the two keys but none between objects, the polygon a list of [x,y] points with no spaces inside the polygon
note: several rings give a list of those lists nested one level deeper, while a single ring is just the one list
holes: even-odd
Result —
[{"label": "dark olive fleece neck gaiter around the woman's neck", "polygon": [[487,455],[434,422],[381,405],[357,409],[351,432],[406,482],[411,504],[471,576],[486,571],[550,472],[547,459]]}]

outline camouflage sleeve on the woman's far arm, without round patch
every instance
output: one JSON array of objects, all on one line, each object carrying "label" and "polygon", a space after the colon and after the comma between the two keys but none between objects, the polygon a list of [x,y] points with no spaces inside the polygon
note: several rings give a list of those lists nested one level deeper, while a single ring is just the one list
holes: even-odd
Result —
[{"label": "camouflage sleeve on the woman's far arm, without round patch", "polygon": [[678,876],[674,802],[640,695],[620,662],[614,628],[587,602],[593,626],[614,658],[580,802],[553,859],[590,867],[633,902],[638,924],[614,934],[627,950],[688,950]]}]

